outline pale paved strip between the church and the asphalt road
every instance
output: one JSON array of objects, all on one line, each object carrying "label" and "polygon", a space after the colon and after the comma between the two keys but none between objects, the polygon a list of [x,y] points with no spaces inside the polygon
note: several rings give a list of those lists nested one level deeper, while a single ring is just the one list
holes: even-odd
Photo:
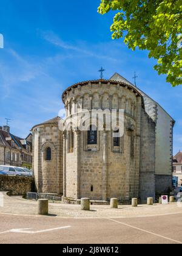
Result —
[{"label": "pale paved strip between the church and the asphalt road", "polygon": [[[37,202],[27,201],[19,196],[9,197],[4,193],[4,207],[0,207],[0,214],[36,215]],[[122,205],[118,209],[111,209],[109,205],[91,205],[89,212],[80,210],[80,205],[49,204],[50,215],[65,218],[136,218],[140,216],[158,216],[182,213],[177,203],[168,205]]]}]

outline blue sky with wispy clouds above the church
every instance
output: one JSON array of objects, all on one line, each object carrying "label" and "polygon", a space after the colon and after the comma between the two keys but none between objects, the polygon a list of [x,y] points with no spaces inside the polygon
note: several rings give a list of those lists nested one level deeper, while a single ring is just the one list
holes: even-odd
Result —
[{"label": "blue sky with wispy clouds above the church", "polygon": [[76,82],[120,73],[175,119],[174,152],[182,150],[182,87],[172,88],[153,70],[146,51],[112,40],[113,13],[99,15],[99,0],[1,1],[0,125],[11,118],[11,131],[25,137],[32,126],[58,115],[61,94]]}]

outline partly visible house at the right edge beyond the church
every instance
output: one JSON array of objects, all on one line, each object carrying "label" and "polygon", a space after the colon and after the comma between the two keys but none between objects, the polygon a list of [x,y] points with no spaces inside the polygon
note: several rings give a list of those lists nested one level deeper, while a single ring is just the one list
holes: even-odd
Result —
[{"label": "partly visible house at the right edge beyond the church", "polygon": [[173,175],[178,177],[178,185],[182,184],[182,152],[179,151],[173,158]]}]

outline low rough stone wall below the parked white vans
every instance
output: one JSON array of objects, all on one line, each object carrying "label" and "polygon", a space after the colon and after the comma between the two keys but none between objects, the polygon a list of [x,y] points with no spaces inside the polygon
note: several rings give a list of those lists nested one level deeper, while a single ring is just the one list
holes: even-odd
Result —
[{"label": "low rough stone wall below the parked white vans", "polygon": [[21,196],[35,191],[33,177],[0,176],[0,191],[8,191],[13,196]]}]

